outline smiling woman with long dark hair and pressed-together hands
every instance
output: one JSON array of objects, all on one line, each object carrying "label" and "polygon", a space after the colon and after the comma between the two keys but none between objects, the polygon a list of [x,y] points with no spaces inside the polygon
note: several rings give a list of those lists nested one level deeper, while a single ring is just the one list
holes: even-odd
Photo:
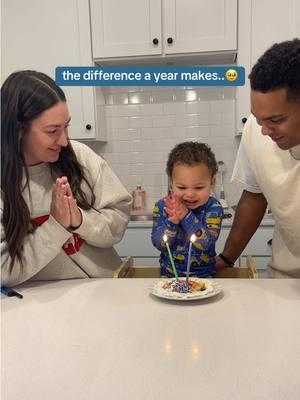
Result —
[{"label": "smiling woman with long dark hair and pressed-together hands", "polygon": [[19,71],[1,107],[2,285],[112,276],[131,197],[102,158],[69,141],[63,91]]}]

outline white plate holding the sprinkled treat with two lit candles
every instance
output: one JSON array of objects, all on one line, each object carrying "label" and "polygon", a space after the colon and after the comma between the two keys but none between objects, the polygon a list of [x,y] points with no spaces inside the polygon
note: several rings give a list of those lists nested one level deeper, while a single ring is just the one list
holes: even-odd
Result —
[{"label": "white plate holding the sprinkled treat with two lit candles", "polygon": [[[179,278],[180,280],[185,280],[185,278]],[[194,281],[204,281],[206,289],[194,292],[194,293],[178,293],[178,292],[171,292],[163,288],[163,285],[166,282],[172,282],[174,279],[169,280],[162,280],[155,283],[151,287],[151,293],[154,296],[161,297],[162,299],[168,300],[200,300],[200,299],[207,299],[212,296],[216,296],[218,293],[222,291],[222,287],[220,284],[210,280],[210,279],[200,279],[200,278],[191,278]]]}]

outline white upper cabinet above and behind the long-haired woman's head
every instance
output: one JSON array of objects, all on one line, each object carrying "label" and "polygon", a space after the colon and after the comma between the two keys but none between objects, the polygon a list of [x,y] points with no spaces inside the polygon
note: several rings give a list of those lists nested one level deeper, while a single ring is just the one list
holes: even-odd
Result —
[{"label": "white upper cabinet above and behind the long-haired woman's head", "polygon": [[[3,0],[2,80],[33,69],[55,78],[57,66],[92,64],[88,0]],[[73,139],[104,139],[97,130],[93,87],[63,87]]]}]

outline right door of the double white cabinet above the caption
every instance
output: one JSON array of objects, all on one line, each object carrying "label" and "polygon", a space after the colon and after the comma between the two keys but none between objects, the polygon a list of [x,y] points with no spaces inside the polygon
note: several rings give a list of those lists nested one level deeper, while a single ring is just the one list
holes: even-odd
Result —
[{"label": "right door of the double white cabinet above the caption", "polygon": [[165,54],[234,50],[237,0],[165,0],[163,32]]}]

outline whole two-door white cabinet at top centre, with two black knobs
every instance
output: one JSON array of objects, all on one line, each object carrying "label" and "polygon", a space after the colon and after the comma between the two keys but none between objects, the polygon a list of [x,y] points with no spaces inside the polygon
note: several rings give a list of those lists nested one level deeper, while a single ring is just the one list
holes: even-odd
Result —
[{"label": "whole two-door white cabinet at top centre, with two black knobs", "polygon": [[93,57],[236,50],[237,0],[91,0]]}]

